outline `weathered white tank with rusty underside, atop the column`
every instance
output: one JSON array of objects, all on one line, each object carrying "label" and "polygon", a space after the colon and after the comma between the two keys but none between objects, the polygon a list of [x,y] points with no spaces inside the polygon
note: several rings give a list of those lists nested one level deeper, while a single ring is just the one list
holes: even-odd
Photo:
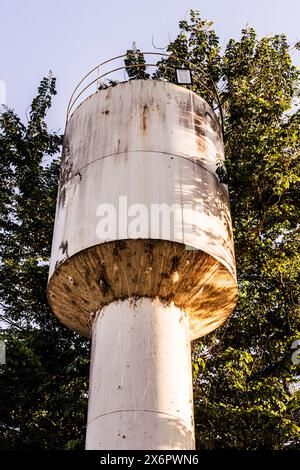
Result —
[{"label": "weathered white tank with rusty underside, atop the column", "polygon": [[[48,298],[56,315],[88,335],[90,317],[125,298],[159,297],[184,308],[191,339],[219,326],[237,287],[227,188],[216,174],[223,144],[208,104],[182,87],[135,80],[84,101],[68,121]],[[99,240],[97,207],[197,203],[179,210],[179,236],[141,239],[125,230]],[[185,247],[195,250],[186,250]]]}]

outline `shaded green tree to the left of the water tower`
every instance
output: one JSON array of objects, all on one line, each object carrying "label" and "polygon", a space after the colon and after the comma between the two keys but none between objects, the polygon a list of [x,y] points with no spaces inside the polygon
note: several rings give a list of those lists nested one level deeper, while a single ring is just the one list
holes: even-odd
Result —
[{"label": "shaded green tree to the left of the water tower", "polygon": [[48,261],[62,137],[45,117],[55,79],[41,81],[24,125],[0,115],[0,446],[58,449],[82,445],[87,341],[64,328],[47,304]]}]

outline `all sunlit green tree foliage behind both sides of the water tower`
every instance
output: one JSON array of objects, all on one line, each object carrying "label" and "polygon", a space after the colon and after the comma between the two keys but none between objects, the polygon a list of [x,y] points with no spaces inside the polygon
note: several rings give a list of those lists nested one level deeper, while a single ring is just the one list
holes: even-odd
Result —
[{"label": "all sunlit green tree foliage behind both sides of the water tower", "polygon": [[[300,339],[299,72],[283,34],[260,39],[246,28],[222,53],[198,12],[179,27],[151,77],[135,45],[125,66],[129,79],[174,81],[174,67],[189,61],[193,91],[223,109],[218,175],[230,190],[239,301],[223,327],[193,345],[197,446],[299,448],[300,374],[291,360]],[[55,320],[45,296],[61,145],[45,124],[54,94],[50,76],[26,126],[8,109],[0,118],[6,448],[83,445],[87,344]]]}]

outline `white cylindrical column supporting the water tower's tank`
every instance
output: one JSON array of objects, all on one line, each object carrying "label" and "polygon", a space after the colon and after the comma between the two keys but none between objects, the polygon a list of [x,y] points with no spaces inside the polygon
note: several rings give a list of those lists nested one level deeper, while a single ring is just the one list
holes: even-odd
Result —
[{"label": "white cylindrical column supporting the water tower's tank", "polygon": [[86,449],[194,449],[188,317],[141,298],[92,327]]}]

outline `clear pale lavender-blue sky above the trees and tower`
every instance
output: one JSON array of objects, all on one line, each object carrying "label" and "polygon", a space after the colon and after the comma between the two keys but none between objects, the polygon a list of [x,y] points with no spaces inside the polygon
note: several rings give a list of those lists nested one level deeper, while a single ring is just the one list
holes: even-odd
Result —
[{"label": "clear pale lavender-blue sky above the trees and tower", "polygon": [[[0,0],[0,79],[7,104],[22,117],[40,79],[51,69],[58,95],[49,116],[63,130],[68,98],[99,62],[122,54],[133,41],[153,50],[174,39],[190,8],[213,20],[224,46],[249,23],[259,35],[300,40],[300,0]],[[300,64],[300,52],[294,54]]]}]

